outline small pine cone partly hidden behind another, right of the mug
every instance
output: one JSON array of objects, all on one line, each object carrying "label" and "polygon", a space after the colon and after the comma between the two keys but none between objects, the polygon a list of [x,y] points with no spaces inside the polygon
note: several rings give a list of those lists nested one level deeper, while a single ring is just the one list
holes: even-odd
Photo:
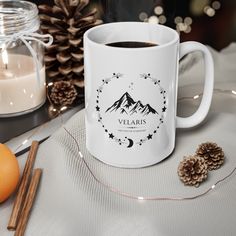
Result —
[{"label": "small pine cone partly hidden behind another, right of the mug", "polygon": [[208,170],[216,170],[224,163],[224,152],[216,143],[206,142],[198,146],[196,155],[203,157],[207,163]]}]

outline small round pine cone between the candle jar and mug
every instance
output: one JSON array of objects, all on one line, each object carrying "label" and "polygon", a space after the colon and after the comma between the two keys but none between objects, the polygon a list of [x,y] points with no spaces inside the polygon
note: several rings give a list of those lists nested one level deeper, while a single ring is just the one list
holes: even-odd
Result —
[{"label": "small round pine cone between the candle jar and mug", "polygon": [[54,82],[49,97],[54,105],[71,105],[77,97],[75,86],[70,81]]}]

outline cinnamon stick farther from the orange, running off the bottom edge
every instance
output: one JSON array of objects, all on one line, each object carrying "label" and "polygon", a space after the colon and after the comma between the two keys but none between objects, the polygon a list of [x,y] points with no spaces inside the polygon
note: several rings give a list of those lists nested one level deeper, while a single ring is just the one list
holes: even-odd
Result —
[{"label": "cinnamon stick farther from the orange, running off the bottom edge", "polygon": [[30,181],[29,189],[25,198],[24,206],[22,208],[22,213],[19,219],[19,223],[16,227],[15,236],[23,236],[25,233],[26,225],[29,219],[29,214],[36,197],[37,189],[39,186],[39,181],[41,178],[42,169],[35,169],[32,179]]}]

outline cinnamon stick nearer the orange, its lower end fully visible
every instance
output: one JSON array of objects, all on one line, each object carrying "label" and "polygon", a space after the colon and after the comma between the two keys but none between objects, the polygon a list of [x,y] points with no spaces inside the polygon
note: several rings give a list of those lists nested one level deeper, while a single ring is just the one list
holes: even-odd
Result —
[{"label": "cinnamon stick nearer the orange, its lower end fully visible", "polygon": [[16,195],[16,199],[13,205],[11,217],[7,226],[8,230],[15,230],[17,226],[17,222],[19,219],[19,215],[21,213],[21,209],[23,206],[23,202],[25,199],[25,195],[27,192],[27,187],[30,180],[30,175],[33,169],[36,153],[38,150],[39,143],[37,141],[33,141],[30,147],[29,155],[25,163],[24,171],[22,174],[21,182],[19,185],[19,189]]}]

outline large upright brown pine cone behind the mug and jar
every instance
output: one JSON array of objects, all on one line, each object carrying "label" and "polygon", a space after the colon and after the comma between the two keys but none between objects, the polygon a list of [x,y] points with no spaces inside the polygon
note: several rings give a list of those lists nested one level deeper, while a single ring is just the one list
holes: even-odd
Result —
[{"label": "large upright brown pine cone behind the mug and jar", "polygon": [[51,82],[75,80],[83,83],[83,34],[101,23],[96,9],[88,10],[89,0],[54,0],[54,6],[39,5],[41,30],[53,36],[45,51],[46,72]]}]

